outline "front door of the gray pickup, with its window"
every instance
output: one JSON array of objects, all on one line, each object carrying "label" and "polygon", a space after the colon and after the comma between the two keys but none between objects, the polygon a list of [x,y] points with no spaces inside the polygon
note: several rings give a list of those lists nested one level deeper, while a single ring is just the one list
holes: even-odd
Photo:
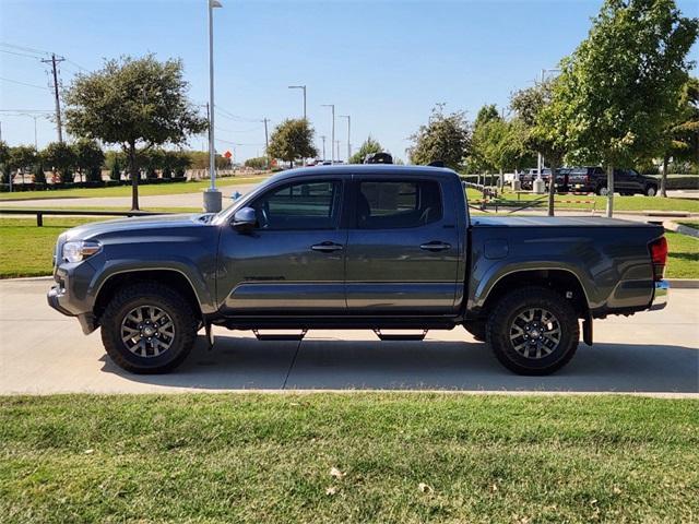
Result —
[{"label": "front door of the gray pickup, with its window", "polygon": [[258,196],[258,227],[224,226],[218,303],[224,314],[343,313],[347,231],[341,178],[281,182]]}]

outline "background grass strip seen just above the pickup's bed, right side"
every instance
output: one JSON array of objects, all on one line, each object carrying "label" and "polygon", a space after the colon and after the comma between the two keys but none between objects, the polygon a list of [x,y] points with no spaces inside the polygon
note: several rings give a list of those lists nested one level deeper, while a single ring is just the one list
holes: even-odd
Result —
[{"label": "background grass strip seen just above the pickup's bed, right side", "polygon": [[[483,199],[483,193],[475,189],[467,189],[466,194],[470,201]],[[541,207],[546,209],[546,195],[522,193],[518,201],[517,193],[508,191],[505,199],[511,203],[521,202],[524,205],[536,199],[543,198]],[[593,204],[577,203],[556,203],[557,210],[592,210],[604,211],[606,206],[606,196],[597,196],[595,194],[557,194],[557,201],[592,201]],[[474,203],[474,205],[476,205]],[[614,209],[616,211],[678,211],[688,213],[699,213],[699,199],[662,199],[660,196],[621,196],[614,195]]]}]

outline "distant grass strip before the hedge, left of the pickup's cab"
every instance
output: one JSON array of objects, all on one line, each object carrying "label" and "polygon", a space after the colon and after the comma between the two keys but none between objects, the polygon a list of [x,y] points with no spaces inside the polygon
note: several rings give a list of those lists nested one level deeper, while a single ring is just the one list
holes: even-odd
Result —
[{"label": "distant grass strip before the hedge, left of the pickup's cab", "polygon": [[[216,186],[228,187],[241,183],[258,183],[268,177],[235,177],[220,178]],[[156,195],[156,194],[180,194],[196,193],[206,189],[210,186],[209,180],[197,182],[173,182],[139,186],[139,195]],[[3,200],[44,200],[44,199],[73,199],[87,196],[130,196],[131,186],[118,186],[114,188],[76,188],[76,189],[56,189],[50,191],[20,191],[13,193],[0,193],[0,202]]]}]

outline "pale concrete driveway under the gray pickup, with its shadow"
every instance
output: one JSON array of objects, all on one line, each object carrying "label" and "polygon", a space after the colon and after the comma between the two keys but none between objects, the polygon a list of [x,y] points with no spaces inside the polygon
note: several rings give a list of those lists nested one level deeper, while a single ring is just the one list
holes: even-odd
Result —
[{"label": "pale concrete driveway under the gray pickup, with its shadow", "polygon": [[699,396],[699,290],[677,289],[663,311],[595,323],[553,377],[518,377],[458,327],[425,342],[379,342],[369,331],[310,332],[301,343],[259,342],[218,330],[175,373],[129,374],[106,357],[99,332],[46,305],[50,282],[0,281],[0,394],[232,390],[447,390],[641,392]]}]

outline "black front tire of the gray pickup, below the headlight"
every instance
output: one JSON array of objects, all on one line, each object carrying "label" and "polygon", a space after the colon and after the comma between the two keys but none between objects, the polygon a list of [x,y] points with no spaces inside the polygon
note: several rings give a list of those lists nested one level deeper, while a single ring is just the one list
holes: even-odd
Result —
[{"label": "black front tire of the gray pickup, below the headlight", "polygon": [[[171,329],[171,336],[165,334],[165,330],[163,330],[164,334],[161,337],[164,342],[162,344],[167,344],[168,347],[162,352],[159,346],[153,349],[153,343],[145,341],[146,335],[142,330],[133,338],[122,341],[122,330],[134,331],[139,329],[139,326],[129,324],[130,321],[127,317],[133,311],[143,311],[141,308],[147,310],[149,307],[164,313],[165,317],[159,317],[159,321],[165,324],[165,320],[167,320],[167,329]],[[126,327],[125,322],[127,322]],[[157,322],[156,318],[155,323],[150,324],[151,329],[156,329]],[[169,327],[170,322],[171,327]],[[146,323],[150,323],[150,320]],[[102,315],[102,342],[107,355],[120,368],[139,374],[164,373],[175,369],[187,358],[197,337],[198,324],[199,320],[191,306],[177,291],[157,283],[137,283],[119,289],[105,308]],[[129,325],[132,325],[133,329]],[[156,336],[153,338],[161,340]],[[138,347],[129,349],[128,344],[135,340],[142,341],[143,347],[137,345]],[[153,353],[153,355],[137,355],[135,350],[142,354]]]}]

